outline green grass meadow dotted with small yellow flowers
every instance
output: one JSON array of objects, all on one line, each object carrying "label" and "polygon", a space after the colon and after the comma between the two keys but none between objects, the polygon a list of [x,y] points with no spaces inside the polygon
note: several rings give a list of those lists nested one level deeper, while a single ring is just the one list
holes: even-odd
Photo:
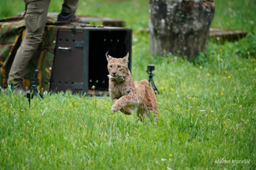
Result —
[{"label": "green grass meadow dotted with small yellow flowers", "polygon": [[[24,10],[22,1],[0,3],[0,17]],[[61,4],[52,0],[49,11]],[[132,76],[147,79],[146,65],[155,64],[160,120],[150,126],[113,114],[109,97],[51,94],[28,108],[26,98],[0,94],[0,168],[256,169],[256,3],[215,5],[212,26],[249,34],[234,43],[210,41],[207,58],[189,63],[149,56],[149,34],[136,31],[147,27],[148,1],[80,0],[78,14],[122,18],[134,29]],[[215,163],[222,159],[230,163]]]}]

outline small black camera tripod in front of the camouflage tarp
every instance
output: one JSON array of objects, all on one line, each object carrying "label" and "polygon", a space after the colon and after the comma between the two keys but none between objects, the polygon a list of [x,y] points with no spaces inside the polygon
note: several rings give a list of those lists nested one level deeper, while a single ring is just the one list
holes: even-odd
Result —
[{"label": "small black camera tripod in front of the camouflage tarp", "polygon": [[37,96],[39,100],[42,100],[42,98],[43,98],[42,95],[40,94],[40,92],[38,92],[38,90],[36,88],[37,87],[36,81],[39,80],[39,79],[37,79],[38,73],[39,73],[39,70],[35,70],[35,77],[31,78],[31,80],[33,80],[32,86],[31,86],[29,92],[27,92],[27,94],[26,94],[26,97],[29,100],[29,107],[30,107],[30,101],[31,101],[31,99],[33,99],[34,95]]}]

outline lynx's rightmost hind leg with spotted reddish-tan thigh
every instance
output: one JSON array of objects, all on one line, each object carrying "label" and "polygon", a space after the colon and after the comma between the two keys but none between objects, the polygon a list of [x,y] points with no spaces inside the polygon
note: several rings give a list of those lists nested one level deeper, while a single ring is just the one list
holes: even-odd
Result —
[{"label": "lynx's rightmost hind leg with spotted reddish-tan thigh", "polygon": [[151,115],[150,111],[153,111],[155,113],[155,119],[159,121],[156,95],[150,86],[145,86],[145,99],[143,107],[147,111],[148,115]]}]

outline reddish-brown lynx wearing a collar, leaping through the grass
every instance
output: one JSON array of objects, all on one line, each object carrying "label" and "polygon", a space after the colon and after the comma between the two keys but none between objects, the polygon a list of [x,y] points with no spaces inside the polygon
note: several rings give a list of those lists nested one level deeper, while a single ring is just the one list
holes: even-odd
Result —
[{"label": "reddish-brown lynx wearing a collar, leaping through the grass", "polygon": [[109,95],[114,102],[112,111],[121,111],[126,115],[131,115],[132,110],[140,121],[155,113],[158,118],[158,108],[156,96],[149,86],[149,81],[134,81],[128,69],[129,53],[124,58],[114,58],[106,53],[107,69],[109,70]]}]

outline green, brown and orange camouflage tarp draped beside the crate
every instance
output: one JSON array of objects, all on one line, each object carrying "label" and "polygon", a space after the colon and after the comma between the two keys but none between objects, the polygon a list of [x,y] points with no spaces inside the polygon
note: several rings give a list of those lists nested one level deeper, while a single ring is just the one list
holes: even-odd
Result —
[{"label": "green, brown and orange camouflage tarp draped beside the crate", "polygon": [[[39,87],[43,91],[49,91],[51,71],[54,60],[57,30],[60,26],[79,26],[81,23],[69,21],[57,21],[56,16],[48,17],[43,40],[37,51],[34,52],[26,68],[22,88],[31,86],[31,77],[35,69],[39,70]],[[24,17],[9,17],[0,19],[0,86],[7,86],[7,79],[17,49],[25,36],[26,22]]]}]

